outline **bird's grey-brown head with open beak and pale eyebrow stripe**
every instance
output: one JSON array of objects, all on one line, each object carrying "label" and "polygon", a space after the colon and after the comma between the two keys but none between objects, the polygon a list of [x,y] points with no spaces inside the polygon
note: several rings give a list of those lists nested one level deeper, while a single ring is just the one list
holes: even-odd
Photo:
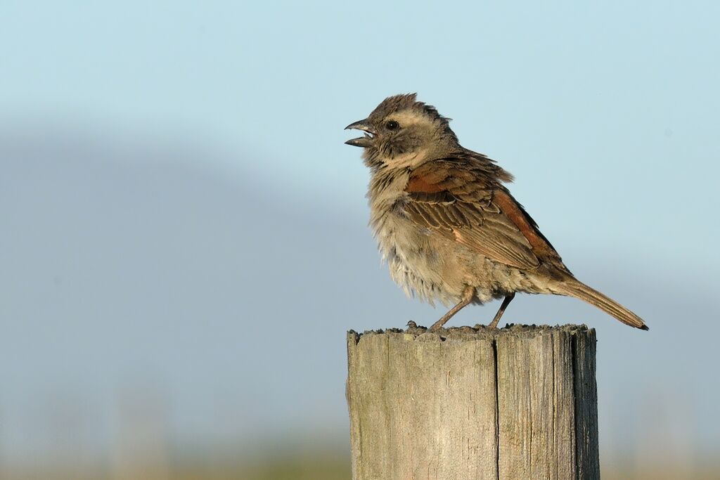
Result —
[{"label": "bird's grey-brown head with open beak and pale eyebrow stripe", "polygon": [[345,127],[365,132],[346,144],[365,148],[371,164],[410,166],[456,147],[448,122],[434,107],[417,101],[415,94],[390,96],[369,117]]}]

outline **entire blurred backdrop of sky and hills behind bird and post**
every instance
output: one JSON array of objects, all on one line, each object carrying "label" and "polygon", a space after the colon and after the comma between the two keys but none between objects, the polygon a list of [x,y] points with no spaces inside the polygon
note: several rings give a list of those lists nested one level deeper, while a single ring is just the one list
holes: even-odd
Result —
[{"label": "entire blurred backdrop of sky and hills behind bird and post", "polygon": [[[577,276],[606,479],[720,476],[720,4],[0,2],[0,478],[349,479],[392,284],[346,124],[417,91]],[[497,304],[452,325],[488,322]]]}]

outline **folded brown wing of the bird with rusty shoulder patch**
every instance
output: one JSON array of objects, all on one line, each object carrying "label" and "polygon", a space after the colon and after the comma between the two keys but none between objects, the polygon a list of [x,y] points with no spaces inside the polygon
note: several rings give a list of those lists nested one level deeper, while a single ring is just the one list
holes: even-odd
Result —
[{"label": "folded brown wing of the bird with rusty shoulder patch", "polygon": [[418,225],[505,265],[534,269],[544,262],[566,270],[494,169],[500,168],[485,157],[425,163],[410,174],[405,213]]}]

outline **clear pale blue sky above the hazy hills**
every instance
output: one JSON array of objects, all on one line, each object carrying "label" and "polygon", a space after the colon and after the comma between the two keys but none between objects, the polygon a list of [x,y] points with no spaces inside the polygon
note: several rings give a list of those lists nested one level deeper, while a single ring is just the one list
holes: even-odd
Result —
[{"label": "clear pale blue sky above the hazy hills", "polygon": [[[0,121],[239,150],[249,158],[227,155],[224,167],[359,210],[365,176],[341,127],[384,96],[418,91],[456,119],[468,148],[515,173],[517,196],[559,235],[603,242],[557,221],[589,209],[598,227],[618,227],[619,245],[674,261],[713,201],[719,10],[3,2]],[[673,201],[682,189],[696,207]],[[696,237],[693,251],[713,248],[711,235]]]}]

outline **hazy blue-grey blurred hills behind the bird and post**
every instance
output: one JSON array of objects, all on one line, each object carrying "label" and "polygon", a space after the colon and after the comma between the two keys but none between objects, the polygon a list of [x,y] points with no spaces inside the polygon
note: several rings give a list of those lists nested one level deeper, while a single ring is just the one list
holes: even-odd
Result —
[{"label": "hazy blue-grey blurred hills behind the bird and post", "polygon": [[[332,466],[347,451],[344,332],[441,312],[392,284],[358,210],[342,214],[320,191],[282,191],[241,155],[237,170],[220,169],[228,162],[213,155],[233,154],[62,130],[0,135],[7,468],[117,472],[151,451],[162,476],[186,457],[199,458],[192,468],[236,453],[275,458],[279,440],[325,448],[320,439],[333,438],[328,468],[345,471]],[[504,320],[597,327],[603,464],[692,475],[720,450],[710,381],[720,310],[698,281],[708,273],[558,248],[650,332],[552,297],[521,296]],[[494,311],[466,309],[454,325]]]}]

